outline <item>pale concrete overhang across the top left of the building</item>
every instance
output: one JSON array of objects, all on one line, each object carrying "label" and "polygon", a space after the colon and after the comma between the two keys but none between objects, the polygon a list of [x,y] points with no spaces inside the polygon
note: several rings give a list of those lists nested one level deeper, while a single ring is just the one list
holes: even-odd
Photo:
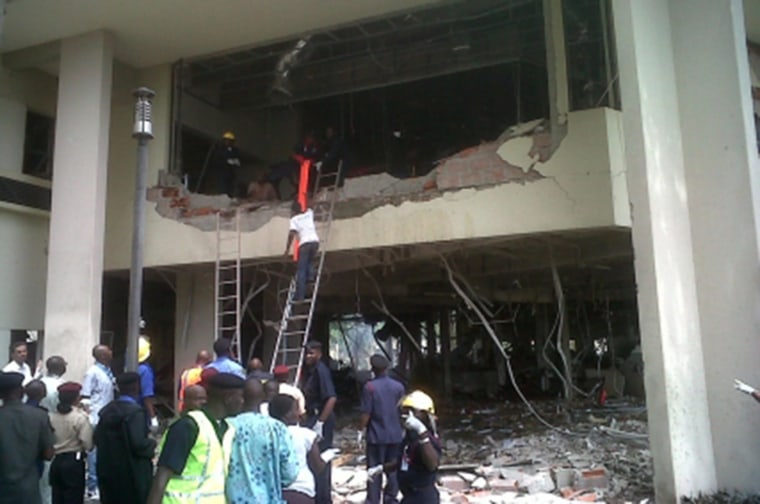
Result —
[{"label": "pale concrete overhang across the top left of the building", "polygon": [[441,3],[435,0],[14,0],[0,52],[96,30],[116,39],[116,56],[136,68],[261,45]]}]

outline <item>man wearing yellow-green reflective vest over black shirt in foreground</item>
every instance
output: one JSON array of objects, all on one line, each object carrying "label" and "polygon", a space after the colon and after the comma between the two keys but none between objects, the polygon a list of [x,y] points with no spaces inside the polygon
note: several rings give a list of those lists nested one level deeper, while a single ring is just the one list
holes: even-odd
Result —
[{"label": "man wearing yellow-green reflective vest over black shirt in foreground", "polygon": [[230,373],[209,379],[208,402],[174,422],[164,436],[148,504],[224,504],[233,427],[225,420],[243,406],[245,380]]}]

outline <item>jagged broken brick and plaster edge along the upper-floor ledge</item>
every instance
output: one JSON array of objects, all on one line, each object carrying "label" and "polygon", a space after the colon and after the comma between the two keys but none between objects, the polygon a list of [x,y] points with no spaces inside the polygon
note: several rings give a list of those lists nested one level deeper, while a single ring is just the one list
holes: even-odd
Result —
[{"label": "jagged broken brick and plaster edge along the upper-floor ledge", "polygon": [[[460,151],[422,177],[399,179],[380,173],[348,178],[337,196],[333,218],[361,217],[382,206],[430,201],[450,191],[541,180],[545,177],[536,165],[545,163],[553,154],[551,134],[545,124],[536,120],[509,128],[497,140]],[[166,179],[148,192],[148,200],[156,203],[156,212],[201,231],[216,229],[217,213],[229,228],[238,208],[242,232],[255,231],[275,216],[290,217],[287,201],[238,204],[226,195],[191,193],[171,177]]]}]

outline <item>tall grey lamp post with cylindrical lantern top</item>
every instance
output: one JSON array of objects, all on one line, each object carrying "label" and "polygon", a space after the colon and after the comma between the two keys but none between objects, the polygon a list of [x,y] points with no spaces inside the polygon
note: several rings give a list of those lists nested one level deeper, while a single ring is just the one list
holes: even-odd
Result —
[{"label": "tall grey lamp post with cylindrical lantern top", "polygon": [[132,264],[129,270],[129,308],[127,314],[127,361],[128,371],[137,370],[137,341],[140,337],[142,315],[142,264],[145,223],[145,192],[148,178],[148,142],[153,139],[151,99],[156,95],[151,89],[139,87],[133,93],[135,123],[132,138],[137,139],[137,175],[135,177],[135,206],[132,220]]}]

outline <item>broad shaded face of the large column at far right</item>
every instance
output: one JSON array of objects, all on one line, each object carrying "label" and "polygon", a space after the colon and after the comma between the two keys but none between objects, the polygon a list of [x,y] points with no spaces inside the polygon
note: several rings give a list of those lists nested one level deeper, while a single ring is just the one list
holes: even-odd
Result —
[{"label": "broad shaded face of the large column at far right", "polygon": [[681,138],[719,488],[760,491],[758,154],[742,3],[670,0]]}]

